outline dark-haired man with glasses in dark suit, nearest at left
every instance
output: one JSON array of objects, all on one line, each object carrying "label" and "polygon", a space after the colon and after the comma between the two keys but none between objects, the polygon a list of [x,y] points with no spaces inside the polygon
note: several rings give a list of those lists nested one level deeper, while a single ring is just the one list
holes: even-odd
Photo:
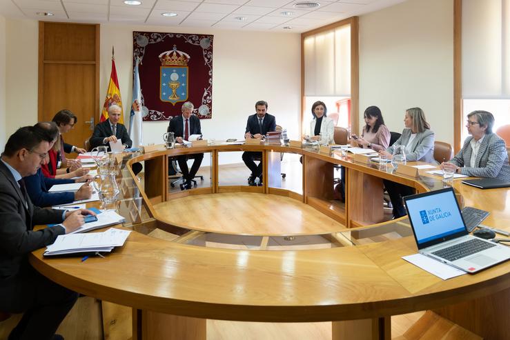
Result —
[{"label": "dark-haired man with glasses in dark suit, nearest at left", "polygon": [[[55,331],[78,297],[43,277],[28,262],[30,252],[83,225],[82,214],[93,214],[32,205],[22,178],[37,172],[48,150],[50,142],[34,127],[26,126],[9,137],[0,159],[0,310],[24,312],[10,340],[63,339]],[[61,224],[33,230],[33,226],[47,223]]]}]

